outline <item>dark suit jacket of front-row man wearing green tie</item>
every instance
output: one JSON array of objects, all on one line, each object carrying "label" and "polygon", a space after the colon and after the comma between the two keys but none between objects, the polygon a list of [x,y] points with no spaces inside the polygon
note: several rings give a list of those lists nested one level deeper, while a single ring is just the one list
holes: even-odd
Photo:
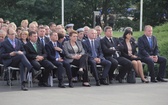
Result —
[{"label": "dark suit jacket of front-row man wearing green tie", "polygon": [[37,52],[34,49],[32,43],[30,41],[24,45],[25,50],[26,50],[26,56],[27,56],[27,58],[30,61],[32,61],[32,60],[36,59],[37,55],[40,55],[40,56],[43,56],[44,59],[46,59],[47,54],[46,54],[45,47],[41,43],[39,43],[39,42],[36,43],[36,46],[37,46]]}]

